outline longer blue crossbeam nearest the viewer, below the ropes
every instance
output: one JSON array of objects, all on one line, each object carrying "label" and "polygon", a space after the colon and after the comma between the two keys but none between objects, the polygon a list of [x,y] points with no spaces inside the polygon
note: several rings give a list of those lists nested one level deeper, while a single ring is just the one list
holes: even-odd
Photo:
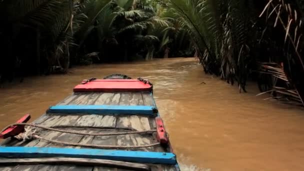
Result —
[{"label": "longer blue crossbeam nearest the viewer, below the ropes", "polygon": [[111,159],[129,162],[176,164],[176,156],[170,152],[124,151],[89,148],[55,148],[0,146],[0,157],[38,158],[38,157],[77,157]]}]

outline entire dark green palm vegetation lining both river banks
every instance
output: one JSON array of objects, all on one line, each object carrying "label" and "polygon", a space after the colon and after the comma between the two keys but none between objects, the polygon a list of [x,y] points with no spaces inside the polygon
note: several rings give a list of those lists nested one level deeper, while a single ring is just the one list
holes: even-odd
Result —
[{"label": "entire dark green palm vegetation lining both river banks", "polygon": [[246,91],[303,103],[300,0],[0,0],[0,79],[75,64],[196,56]]}]

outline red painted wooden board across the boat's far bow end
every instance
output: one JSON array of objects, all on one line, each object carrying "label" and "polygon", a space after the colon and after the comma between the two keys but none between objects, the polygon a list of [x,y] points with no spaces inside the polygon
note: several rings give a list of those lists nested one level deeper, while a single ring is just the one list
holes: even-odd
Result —
[{"label": "red painted wooden board across the boat's far bow end", "polygon": [[[84,83],[85,81],[82,81]],[[74,87],[74,92],[151,91],[152,86],[138,79],[95,79]]]}]

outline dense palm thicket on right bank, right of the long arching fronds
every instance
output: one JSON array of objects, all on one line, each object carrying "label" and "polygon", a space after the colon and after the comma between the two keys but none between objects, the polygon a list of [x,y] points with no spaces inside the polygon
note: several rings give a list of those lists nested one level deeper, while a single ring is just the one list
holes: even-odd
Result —
[{"label": "dense palm thicket on right bank, right of the long arching fronds", "polygon": [[303,9],[299,0],[168,0],[206,73],[303,103]]}]

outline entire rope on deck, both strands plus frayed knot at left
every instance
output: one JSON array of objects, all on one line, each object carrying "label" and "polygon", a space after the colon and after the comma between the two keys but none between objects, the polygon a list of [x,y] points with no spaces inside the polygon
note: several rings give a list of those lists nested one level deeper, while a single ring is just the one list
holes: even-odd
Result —
[{"label": "entire rope on deck, both strands plus frayed knot at left", "polygon": [[58,143],[58,144],[72,145],[72,146],[82,146],[82,147],[95,147],[95,148],[147,148],[147,147],[160,145],[159,142],[151,143],[151,144],[145,144],[145,145],[130,145],[130,146],[81,144],[81,143],[64,142],[64,141],[58,141],[58,140],[43,138],[43,137],[41,137],[41,136],[39,136],[35,133],[36,130],[32,131],[32,127],[38,127],[38,128],[57,131],[57,132],[62,132],[62,133],[71,133],[71,134],[86,135],[86,136],[110,136],[110,135],[125,135],[125,134],[135,134],[135,133],[152,133],[152,132],[156,131],[155,129],[143,130],[143,131],[112,132],[112,133],[83,133],[83,132],[78,132],[78,131],[62,130],[62,129],[52,128],[52,127],[47,127],[47,126],[42,126],[42,125],[37,125],[37,124],[32,124],[32,123],[13,123],[13,124],[10,124],[10,125],[6,126],[4,129],[1,130],[1,132],[3,132],[5,129],[7,129],[9,127],[17,126],[17,125],[28,126],[28,127],[25,128],[24,132],[19,133],[18,135],[14,136],[15,138],[17,138],[19,140],[22,139],[23,141],[31,140],[33,138],[36,138],[36,139],[46,140],[46,141],[49,141],[51,143]]}]

